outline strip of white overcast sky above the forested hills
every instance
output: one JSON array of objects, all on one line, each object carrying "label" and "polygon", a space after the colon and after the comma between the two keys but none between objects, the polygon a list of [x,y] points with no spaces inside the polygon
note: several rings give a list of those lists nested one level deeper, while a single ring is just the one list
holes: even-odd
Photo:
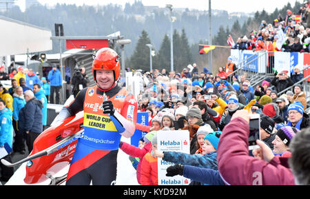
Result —
[{"label": "strip of white overcast sky above the forested hills", "polygon": [[[19,0],[20,1],[20,0]],[[67,3],[67,4],[76,4],[76,6],[82,6],[83,3],[86,5],[107,5],[110,3],[118,4],[125,6],[125,3],[130,2],[134,3],[137,0],[37,0],[43,5],[48,4],[50,6],[56,3]],[[175,8],[195,8],[198,10],[208,10],[209,9],[209,0],[191,0],[191,1],[182,1],[182,0],[141,0],[145,6],[159,6],[165,7],[166,4],[172,4]],[[228,12],[256,12],[262,11],[265,8],[266,12],[273,12],[276,8],[282,8],[284,5],[287,5],[288,2],[291,5],[295,5],[295,2],[298,1],[302,3],[304,0],[212,0],[211,8],[215,10],[227,10]]]}]

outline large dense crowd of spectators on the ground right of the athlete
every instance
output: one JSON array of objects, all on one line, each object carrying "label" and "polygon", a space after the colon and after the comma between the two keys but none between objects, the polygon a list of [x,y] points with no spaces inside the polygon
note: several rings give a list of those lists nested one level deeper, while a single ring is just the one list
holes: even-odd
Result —
[{"label": "large dense crowd of spectators on the ground right of the athlete", "polygon": [[[176,164],[168,167],[167,176],[191,178],[191,185],[296,184],[288,161],[292,156],[289,143],[298,134],[309,134],[310,126],[302,85],[278,95],[283,86],[293,85],[287,71],[266,78],[257,87],[251,86],[246,73],[228,78],[221,72],[225,67],[215,76],[206,69],[181,74],[135,72],[142,82],[138,110],[148,112],[149,127],[137,127],[147,133],[141,138],[143,145],[121,142],[120,149],[130,154],[139,184],[158,185],[156,158]],[[253,151],[247,148],[250,114],[260,114],[260,149]],[[190,154],[158,151],[158,130],[179,129],[189,131]],[[254,178],[252,163],[259,165],[262,178]]]}]

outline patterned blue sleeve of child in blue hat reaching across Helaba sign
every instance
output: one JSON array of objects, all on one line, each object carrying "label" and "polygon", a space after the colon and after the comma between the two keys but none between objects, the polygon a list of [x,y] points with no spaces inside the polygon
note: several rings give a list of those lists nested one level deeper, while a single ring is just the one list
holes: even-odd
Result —
[{"label": "patterned blue sleeve of child in blue hat reaching across Helaba sign", "polygon": [[165,151],[163,160],[181,165],[192,165],[196,167],[204,167],[208,169],[218,170],[216,160],[216,152],[211,152],[205,155],[200,154],[184,154],[174,151]]}]

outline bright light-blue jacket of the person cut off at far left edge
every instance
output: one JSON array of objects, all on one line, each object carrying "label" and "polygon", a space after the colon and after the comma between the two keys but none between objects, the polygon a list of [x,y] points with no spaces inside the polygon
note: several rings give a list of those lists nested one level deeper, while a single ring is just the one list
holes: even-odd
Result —
[{"label": "bright light-blue jacket of the person cut off at far left edge", "polygon": [[12,148],[13,144],[13,124],[12,124],[12,112],[8,108],[4,108],[0,112],[0,147],[3,147],[5,143]]}]

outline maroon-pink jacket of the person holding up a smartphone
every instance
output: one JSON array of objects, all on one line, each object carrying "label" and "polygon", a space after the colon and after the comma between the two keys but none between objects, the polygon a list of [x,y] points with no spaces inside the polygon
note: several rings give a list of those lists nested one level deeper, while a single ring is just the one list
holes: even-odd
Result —
[{"label": "maroon-pink jacket of the person holding up a smartphone", "polygon": [[218,143],[218,171],[229,185],[295,185],[291,169],[281,165],[280,156],[270,163],[249,156],[249,123],[234,118]]}]

